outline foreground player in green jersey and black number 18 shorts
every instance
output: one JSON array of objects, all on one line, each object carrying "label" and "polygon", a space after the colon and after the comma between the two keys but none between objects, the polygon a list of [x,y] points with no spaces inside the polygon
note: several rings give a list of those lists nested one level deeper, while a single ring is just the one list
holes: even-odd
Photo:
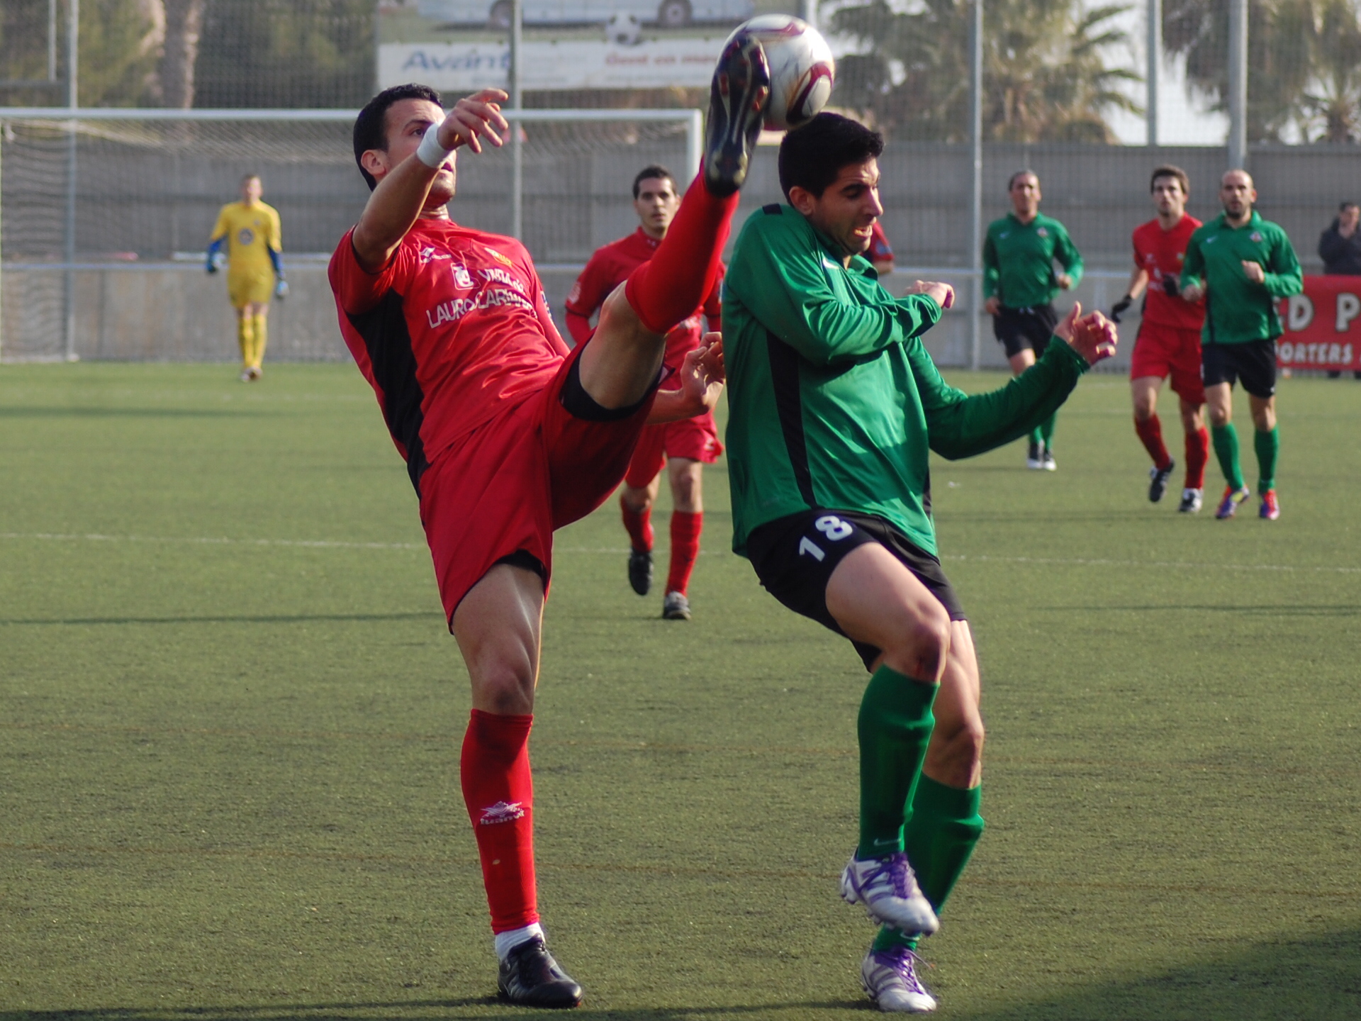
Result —
[{"label": "foreground player in green jersey and black number 18 shorts", "polygon": [[935,999],[917,941],[983,833],[979,666],[936,555],[928,448],[965,457],[1053,414],[1115,327],[1074,309],[1040,361],[992,393],[946,385],[920,335],[954,299],[893,298],[863,257],[883,139],[821,113],[780,146],[788,204],[738,238],[723,291],[732,547],[795,613],[844,634],[871,671],[857,720],[860,839],[841,896],[881,923],[860,967],[881,1010]]}]

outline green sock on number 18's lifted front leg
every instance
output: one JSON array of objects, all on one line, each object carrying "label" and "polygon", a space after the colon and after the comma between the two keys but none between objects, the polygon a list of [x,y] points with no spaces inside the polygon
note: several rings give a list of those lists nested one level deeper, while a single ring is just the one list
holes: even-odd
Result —
[{"label": "green sock on number 18's lifted front leg", "polygon": [[902,822],[921,773],[938,685],[879,667],[860,701],[860,845],[857,858],[902,851]]}]

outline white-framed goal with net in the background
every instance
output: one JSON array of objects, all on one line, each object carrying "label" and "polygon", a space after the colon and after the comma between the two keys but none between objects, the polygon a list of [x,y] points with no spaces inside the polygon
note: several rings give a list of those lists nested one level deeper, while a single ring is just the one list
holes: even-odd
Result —
[{"label": "white-framed goal with net in the background", "polygon": [[[700,110],[504,113],[523,132],[521,240],[555,306],[591,252],[636,226],[638,169],[685,180],[700,166]],[[347,357],[325,259],[367,199],[357,114],[0,108],[0,358],[230,359],[225,285],[196,253],[248,173],[283,221],[291,293],[271,313],[271,354]],[[455,218],[509,234],[513,180],[505,150],[464,155]]]}]

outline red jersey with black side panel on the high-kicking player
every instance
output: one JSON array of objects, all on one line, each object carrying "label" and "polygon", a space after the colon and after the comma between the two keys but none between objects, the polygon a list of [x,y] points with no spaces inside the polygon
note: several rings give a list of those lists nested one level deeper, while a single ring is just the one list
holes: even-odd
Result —
[{"label": "red jersey with black side panel on the high-kicking player", "polygon": [[351,233],[328,271],[340,332],[419,493],[444,449],[547,385],[568,346],[514,238],[421,218],[370,274]]}]

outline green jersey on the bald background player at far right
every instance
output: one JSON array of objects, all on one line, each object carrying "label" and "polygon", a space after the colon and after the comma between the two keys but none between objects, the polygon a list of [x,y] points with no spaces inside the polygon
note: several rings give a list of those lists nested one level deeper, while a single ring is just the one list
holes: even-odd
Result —
[{"label": "green jersey on the bald background player at far right", "polygon": [[[1245,261],[1262,265],[1262,283],[1248,279]],[[1202,282],[1206,297],[1200,342],[1206,344],[1275,340],[1282,332],[1277,298],[1304,289],[1290,238],[1256,210],[1241,227],[1229,226],[1225,214],[1196,227],[1181,264],[1181,290]]]}]

